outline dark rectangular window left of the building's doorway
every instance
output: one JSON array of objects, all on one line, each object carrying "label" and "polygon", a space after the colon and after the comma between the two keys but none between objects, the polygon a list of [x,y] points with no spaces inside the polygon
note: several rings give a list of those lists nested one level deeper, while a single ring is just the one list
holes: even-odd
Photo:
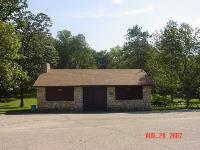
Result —
[{"label": "dark rectangular window left of the building's doorway", "polygon": [[74,87],[47,87],[47,101],[73,101]]}]

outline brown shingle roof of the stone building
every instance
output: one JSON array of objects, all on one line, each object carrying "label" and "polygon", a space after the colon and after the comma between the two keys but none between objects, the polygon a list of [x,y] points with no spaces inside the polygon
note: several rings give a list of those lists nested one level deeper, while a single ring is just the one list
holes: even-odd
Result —
[{"label": "brown shingle roof of the stone building", "polygon": [[154,85],[141,69],[51,69],[34,86]]}]

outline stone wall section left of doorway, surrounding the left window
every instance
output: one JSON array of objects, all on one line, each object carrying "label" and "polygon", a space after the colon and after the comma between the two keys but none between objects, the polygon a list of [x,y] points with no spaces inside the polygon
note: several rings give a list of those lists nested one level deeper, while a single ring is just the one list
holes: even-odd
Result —
[{"label": "stone wall section left of doorway, surrounding the left window", "polygon": [[39,111],[82,111],[83,89],[74,87],[74,101],[46,101],[46,90],[44,87],[37,88],[37,100]]}]

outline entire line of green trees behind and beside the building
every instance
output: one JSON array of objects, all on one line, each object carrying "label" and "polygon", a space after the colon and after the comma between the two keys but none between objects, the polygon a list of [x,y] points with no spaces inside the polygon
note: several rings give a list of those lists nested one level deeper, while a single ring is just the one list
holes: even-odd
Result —
[{"label": "entire line of green trees behind and beside the building", "polygon": [[27,0],[0,0],[0,99],[32,93],[45,62],[53,68],[144,69],[154,80],[154,93],[200,97],[200,29],[168,21],[149,34],[134,25],[126,42],[110,50],[95,51],[83,34],[50,34],[51,19],[27,10]]}]

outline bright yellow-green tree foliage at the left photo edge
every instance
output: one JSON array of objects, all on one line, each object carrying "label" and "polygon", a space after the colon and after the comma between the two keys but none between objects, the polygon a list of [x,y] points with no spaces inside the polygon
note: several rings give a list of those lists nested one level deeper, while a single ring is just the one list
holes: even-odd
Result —
[{"label": "bright yellow-green tree foliage at the left photo edge", "polygon": [[12,25],[0,22],[0,96],[18,88],[21,80],[26,80],[26,72],[22,71],[16,60],[21,59],[19,49],[21,42]]}]

